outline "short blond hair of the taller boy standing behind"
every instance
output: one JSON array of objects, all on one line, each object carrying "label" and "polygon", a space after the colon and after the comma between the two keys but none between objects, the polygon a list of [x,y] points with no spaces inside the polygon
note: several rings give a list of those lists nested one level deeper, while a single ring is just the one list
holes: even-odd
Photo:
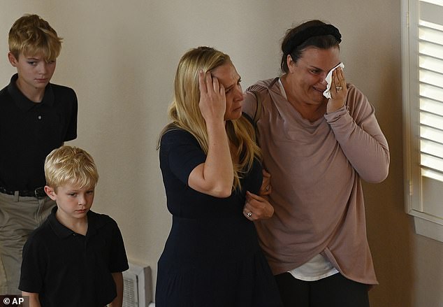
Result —
[{"label": "short blond hair of the taller boy standing behind", "polygon": [[46,62],[55,61],[60,54],[62,38],[38,15],[26,14],[17,19],[9,30],[9,51],[15,59],[23,55],[43,55]]}]

